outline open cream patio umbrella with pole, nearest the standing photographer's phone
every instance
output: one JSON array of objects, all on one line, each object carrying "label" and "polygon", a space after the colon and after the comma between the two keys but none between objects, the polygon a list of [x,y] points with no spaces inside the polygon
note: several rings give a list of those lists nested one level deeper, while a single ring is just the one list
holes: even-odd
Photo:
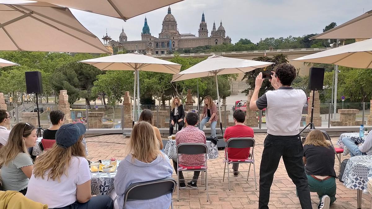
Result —
[{"label": "open cream patio umbrella with pole, nearest the standing photographer's phone", "polygon": [[[207,76],[214,76],[216,80],[217,88],[217,98],[219,99],[218,91],[218,80],[217,75],[223,74],[234,74],[234,73],[247,73],[257,68],[266,67],[274,64],[273,62],[262,62],[254,60],[243,60],[238,58],[222,57],[219,55],[212,55],[206,60],[187,68],[180,73],[173,75],[173,80],[182,81],[192,78],[200,78]],[[222,131],[222,119],[221,119],[221,103],[218,102],[218,112],[219,112],[219,125]]]}]

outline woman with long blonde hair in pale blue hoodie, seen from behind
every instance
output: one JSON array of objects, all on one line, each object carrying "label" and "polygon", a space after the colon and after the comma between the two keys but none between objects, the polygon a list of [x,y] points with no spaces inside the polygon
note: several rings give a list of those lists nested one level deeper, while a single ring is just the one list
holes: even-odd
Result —
[{"label": "woman with long blonde hair in pale blue hoodie, seen from behind", "polygon": [[[159,150],[159,143],[150,123],[140,121],[133,126],[128,149],[129,154],[120,162],[114,180],[120,209],[124,206],[124,194],[129,185],[164,179],[171,177],[173,173],[169,158]],[[127,202],[125,209],[169,209],[171,198],[171,194],[165,194],[150,200],[134,200]]]}]

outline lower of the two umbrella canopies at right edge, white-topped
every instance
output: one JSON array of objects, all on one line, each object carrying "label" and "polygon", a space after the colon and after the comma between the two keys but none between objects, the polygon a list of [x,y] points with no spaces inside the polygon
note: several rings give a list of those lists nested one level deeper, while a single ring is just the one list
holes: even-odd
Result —
[{"label": "lower of the two umbrella canopies at right edge, white-topped", "polygon": [[335,64],[353,68],[372,68],[372,39],[306,55],[292,61]]}]

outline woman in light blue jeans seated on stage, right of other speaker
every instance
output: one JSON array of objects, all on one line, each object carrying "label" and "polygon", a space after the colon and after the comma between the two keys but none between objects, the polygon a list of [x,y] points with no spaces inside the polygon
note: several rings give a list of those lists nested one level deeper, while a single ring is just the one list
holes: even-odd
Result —
[{"label": "woman in light blue jeans seated on stage, right of other speaker", "polygon": [[217,106],[213,102],[211,96],[204,97],[203,112],[200,114],[199,129],[203,131],[204,124],[209,123],[211,125],[211,135],[216,135],[216,125],[218,120]]}]

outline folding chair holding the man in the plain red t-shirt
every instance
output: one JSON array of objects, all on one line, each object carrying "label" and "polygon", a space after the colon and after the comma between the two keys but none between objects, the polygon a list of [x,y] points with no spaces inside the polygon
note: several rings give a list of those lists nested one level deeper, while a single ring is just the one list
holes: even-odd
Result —
[{"label": "folding chair holding the man in the plain red t-shirt", "polygon": [[[227,180],[229,182],[229,191],[230,191],[230,168],[229,168],[229,165],[230,164],[234,164],[234,163],[238,163],[238,164],[241,164],[241,163],[249,163],[249,168],[248,168],[248,171],[240,171],[240,173],[242,172],[248,172],[248,177],[247,177],[247,180],[249,179],[249,173],[250,173],[250,170],[251,170],[251,164],[253,164],[253,172],[254,172],[254,186],[256,186],[256,190],[257,190],[257,179],[256,179],[256,166],[254,166],[254,144],[255,144],[255,141],[253,138],[230,138],[227,143],[226,143],[226,148],[225,148],[225,151],[226,151],[226,155],[225,155],[225,168],[224,168],[224,178],[222,179],[222,181],[225,180],[225,173],[226,173],[226,163],[227,163]],[[248,148],[250,147],[251,150],[250,150],[250,153],[251,153],[251,157],[248,157],[247,159],[231,159],[229,158],[229,154],[228,154],[228,148],[239,148],[239,149],[242,149],[242,148]],[[245,178],[234,178],[234,179],[245,179]]]}]

